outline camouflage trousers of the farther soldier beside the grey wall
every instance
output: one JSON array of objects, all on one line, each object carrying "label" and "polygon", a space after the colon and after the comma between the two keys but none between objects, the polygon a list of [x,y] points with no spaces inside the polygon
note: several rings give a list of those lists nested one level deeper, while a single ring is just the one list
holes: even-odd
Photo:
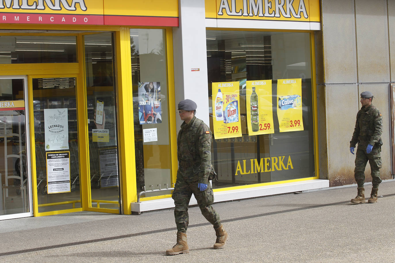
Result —
[{"label": "camouflage trousers of the farther soldier beside the grey wall", "polygon": [[363,187],[365,183],[365,167],[369,160],[371,166],[372,185],[373,188],[378,188],[381,183],[380,168],[381,168],[381,149],[373,147],[371,153],[366,153],[365,149],[357,149],[357,156],[355,157],[354,177],[357,181],[358,187]]}]

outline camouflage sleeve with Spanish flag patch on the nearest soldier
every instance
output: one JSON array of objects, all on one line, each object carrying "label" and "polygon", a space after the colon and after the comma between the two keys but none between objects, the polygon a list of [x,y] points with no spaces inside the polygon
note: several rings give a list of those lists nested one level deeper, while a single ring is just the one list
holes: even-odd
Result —
[{"label": "camouflage sleeve with Spanish flag patch on the nearest soldier", "polygon": [[198,150],[200,155],[200,171],[204,172],[203,177],[199,179],[199,183],[207,185],[211,172],[211,131],[204,123],[198,129]]}]

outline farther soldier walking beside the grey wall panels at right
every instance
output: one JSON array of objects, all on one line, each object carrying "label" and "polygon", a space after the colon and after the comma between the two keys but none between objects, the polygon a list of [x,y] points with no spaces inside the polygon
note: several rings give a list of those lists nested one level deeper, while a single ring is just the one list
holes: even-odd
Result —
[{"label": "farther soldier walking beside the grey wall panels at right", "polygon": [[357,156],[355,157],[355,181],[358,184],[357,196],[351,199],[352,203],[365,203],[365,167],[367,161],[371,166],[372,193],[368,203],[377,202],[378,185],[381,183],[381,134],[383,123],[379,110],[372,104],[373,94],[369,91],[361,93],[362,107],[358,111],[354,133],[350,141],[350,152],[354,154],[355,145],[358,143]]}]

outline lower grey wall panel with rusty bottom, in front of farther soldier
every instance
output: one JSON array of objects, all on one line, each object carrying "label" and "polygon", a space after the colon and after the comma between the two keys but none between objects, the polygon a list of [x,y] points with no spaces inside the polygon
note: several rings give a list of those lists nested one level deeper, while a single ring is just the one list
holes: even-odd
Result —
[{"label": "lower grey wall panel with rusty bottom, in front of farther soldier", "polygon": [[357,84],[332,84],[325,89],[329,186],[350,185],[355,183],[350,140],[359,110]]}]

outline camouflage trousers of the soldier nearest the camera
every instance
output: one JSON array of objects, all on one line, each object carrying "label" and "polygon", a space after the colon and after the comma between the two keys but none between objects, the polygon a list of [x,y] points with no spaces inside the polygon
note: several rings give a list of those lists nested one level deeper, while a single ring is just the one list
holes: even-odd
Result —
[{"label": "camouflage trousers of the soldier nearest the camera", "polygon": [[211,206],[214,202],[213,189],[208,182],[207,189],[200,191],[198,188],[198,180],[186,180],[177,177],[172,198],[174,199],[175,209],[174,217],[177,225],[177,232],[186,232],[189,223],[188,204],[194,194],[202,215],[214,225],[214,228],[221,226],[220,217]]}]

